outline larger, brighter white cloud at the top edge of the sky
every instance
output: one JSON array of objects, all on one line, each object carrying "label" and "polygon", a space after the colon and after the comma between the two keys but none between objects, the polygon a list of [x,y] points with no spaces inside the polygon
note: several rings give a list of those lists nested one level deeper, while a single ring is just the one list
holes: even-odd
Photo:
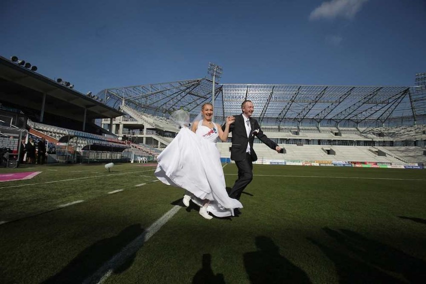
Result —
[{"label": "larger, brighter white cloud at the top edge of the sky", "polygon": [[309,19],[333,19],[342,17],[352,19],[361,10],[362,4],[368,0],[330,0],[322,2],[310,12]]}]

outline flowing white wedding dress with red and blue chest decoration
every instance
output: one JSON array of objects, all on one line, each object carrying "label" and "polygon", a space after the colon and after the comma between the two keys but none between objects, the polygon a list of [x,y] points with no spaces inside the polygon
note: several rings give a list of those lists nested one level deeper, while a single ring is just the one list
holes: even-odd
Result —
[{"label": "flowing white wedding dress with red and blue chest decoration", "polygon": [[203,199],[210,200],[207,211],[213,215],[233,216],[233,208],[242,208],[242,204],[226,192],[217,138],[217,128],[202,125],[202,120],[196,133],[183,126],[158,155],[155,176],[165,184],[189,191],[199,206]]}]

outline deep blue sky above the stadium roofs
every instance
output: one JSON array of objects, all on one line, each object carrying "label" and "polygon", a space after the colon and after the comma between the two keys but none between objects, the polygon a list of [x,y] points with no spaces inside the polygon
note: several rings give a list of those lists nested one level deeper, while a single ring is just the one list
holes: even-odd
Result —
[{"label": "deep blue sky above the stadium roofs", "polygon": [[82,93],[204,77],[222,83],[413,85],[425,0],[3,0],[0,55]]}]

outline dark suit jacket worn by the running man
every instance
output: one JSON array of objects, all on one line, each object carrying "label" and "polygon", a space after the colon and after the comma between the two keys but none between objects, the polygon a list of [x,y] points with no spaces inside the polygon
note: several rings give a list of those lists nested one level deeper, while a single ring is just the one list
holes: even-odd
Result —
[{"label": "dark suit jacket worn by the running man", "polygon": [[[260,141],[262,141],[271,149],[275,149],[275,147],[278,145],[274,141],[270,140],[265,134],[263,134],[256,119],[250,117],[251,132],[253,133],[253,131],[256,129],[259,131],[254,134],[250,134],[249,137],[247,137],[247,133],[245,132],[244,117],[242,114],[234,115],[234,117],[235,121],[229,125],[229,132],[232,132],[231,160],[238,161],[245,159],[247,143],[250,143],[251,160],[257,160],[257,155],[253,149],[254,136],[257,136]],[[224,128],[225,124],[222,125],[222,129]]]}]

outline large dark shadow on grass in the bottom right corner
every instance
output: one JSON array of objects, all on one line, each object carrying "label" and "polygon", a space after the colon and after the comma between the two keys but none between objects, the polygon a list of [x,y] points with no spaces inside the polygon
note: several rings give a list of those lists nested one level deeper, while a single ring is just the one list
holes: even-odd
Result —
[{"label": "large dark shadow on grass in the bottom right corner", "polygon": [[323,230],[335,239],[335,245],[308,239],[334,262],[339,282],[406,282],[395,273],[403,275],[410,283],[420,283],[418,279],[426,277],[426,263],[422,259],[351,230],[337,231],[328,227]]}]

